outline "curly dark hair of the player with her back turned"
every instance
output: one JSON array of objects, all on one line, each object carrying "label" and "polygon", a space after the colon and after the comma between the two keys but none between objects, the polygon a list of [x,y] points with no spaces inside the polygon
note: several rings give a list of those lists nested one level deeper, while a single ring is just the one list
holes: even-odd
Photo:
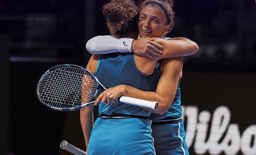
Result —
[{"label": "curly dark hair of the player with her back turned", "polygon": [[139,9],[133,0],[111,0],[103,6],[110,34],[122,38],[138,33]]}]

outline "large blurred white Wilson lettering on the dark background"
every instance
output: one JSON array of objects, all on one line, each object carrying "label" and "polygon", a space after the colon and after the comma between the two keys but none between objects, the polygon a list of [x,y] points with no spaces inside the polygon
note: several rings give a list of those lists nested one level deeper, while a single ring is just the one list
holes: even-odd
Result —
[{"label": "large blurred white Wilson lettering on the dark background", "polygon": [[[182,106],[183,120],[186,117],[186,142],[194,147],[196,154],[209,155],[255,155],[256,124],[242,125],[231,123],[231,111],[227,106],[217,107],[213,113],[199,111],[197,106]],[[248,121],[250,120],[250,121]],[[248,118],[249,123],[253,120]],[[192,145],[194,144],[194,145]],[[224,152],[224,153],[223,153]]]}]

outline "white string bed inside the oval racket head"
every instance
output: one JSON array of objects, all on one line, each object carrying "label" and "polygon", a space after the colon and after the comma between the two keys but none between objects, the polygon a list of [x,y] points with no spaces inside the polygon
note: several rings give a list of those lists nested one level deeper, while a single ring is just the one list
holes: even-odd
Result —
[{"label": "white string bed inside the oval racket head", "polygon": [[65,67],[50,72],[39,87],[41,99],[55,107],[74,107],[89,102],[96,91],[97,83],[89,73]]}]

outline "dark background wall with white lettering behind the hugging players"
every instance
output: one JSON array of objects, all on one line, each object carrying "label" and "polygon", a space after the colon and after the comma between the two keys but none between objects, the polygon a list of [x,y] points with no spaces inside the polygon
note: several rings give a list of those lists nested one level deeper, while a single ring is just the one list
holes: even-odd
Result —
[{"label": "dark background wall with white lettering behind the hugging players", "polygon": [[[105,2],[0,1],[1,155],[69,154],[59,149],[62,140],[86,149],[79,111],[48,109],[35,89],[55,65],[86,66],[86,41],[109,34],[100,9]],[[186,37],[200,47],[183,58],[190,154],[256,154],[255,1],[176,0],[174,8],[176,27],[168,37]]]}]

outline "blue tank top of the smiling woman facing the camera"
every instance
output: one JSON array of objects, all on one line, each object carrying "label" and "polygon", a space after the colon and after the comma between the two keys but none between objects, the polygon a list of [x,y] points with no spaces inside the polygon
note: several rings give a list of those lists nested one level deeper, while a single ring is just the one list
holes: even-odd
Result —
[{"label": "blue tank top of the smiling woman facing the camera", "polygon": [[[161,64],[161,62],[162,61],[160,60],[158,63]],[[160,70],[160,65],[158,65],[155,69],[155,78],[156,78],[155,79],[155,81],[156,81],[155,82],[155,91],[156,91],[157,84],[158,84],[158,81],[159,81],[161,75],[162,75],[162,73],[161,73],[161,70]],[[163,118],[166,118],[166,117],[176,117],[177,118],[177,117],[182,116],[180,82],[181,82],[181,80],[179,79],[175,97],[173,99],[173,102],[172,102],[171,106],[166,111],[166,113],[163,114],[163,115],[152,113],[151,116],[150,116],[151,120],[159,120],[159,119],[163,119]]]}]

